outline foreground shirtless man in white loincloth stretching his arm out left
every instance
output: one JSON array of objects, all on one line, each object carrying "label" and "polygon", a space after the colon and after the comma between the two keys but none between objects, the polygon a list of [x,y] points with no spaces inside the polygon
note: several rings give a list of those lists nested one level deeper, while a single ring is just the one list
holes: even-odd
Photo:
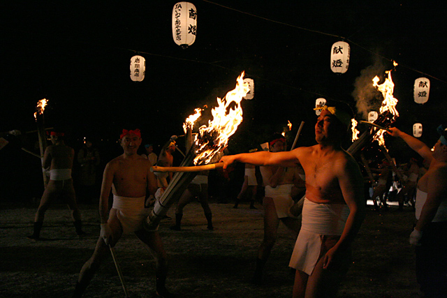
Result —
[{"label": "foreground shirtless man in white loincloth stretching his arm out left", "polygon": [[255,165],[302,165],[306,199],[302,227],[290,266],[297,269],[293,297],[335,297],[351,262],[351,242],[365,217],[363,179],[354,158],[341,147],[351,124],[347,112],[323,107],[312,147],[293,151],[223,156],[223,167],[235,161]]}]

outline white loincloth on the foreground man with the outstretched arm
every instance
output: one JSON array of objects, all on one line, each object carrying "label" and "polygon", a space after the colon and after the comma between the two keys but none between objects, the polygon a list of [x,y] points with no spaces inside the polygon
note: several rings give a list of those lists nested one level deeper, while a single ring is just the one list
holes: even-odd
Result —
[{"label": "white loincloth on the foreground man with the outstretched arm", "polygon": [[321,253],[321,238],[341,235],[348,216],[346,204],[316,204],[305,198],[301,230],[288,266],[311,275]]}]

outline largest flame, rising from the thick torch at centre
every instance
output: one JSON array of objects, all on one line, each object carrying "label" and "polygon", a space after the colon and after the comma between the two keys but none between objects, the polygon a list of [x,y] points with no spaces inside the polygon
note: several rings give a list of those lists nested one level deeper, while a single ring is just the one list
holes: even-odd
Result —
[{"label": "largest flame, rising from the thick torch at centre", "polygon": [[228,138],[235,133],[237,126],[242,122],[240,102],[250,89],[248,82],[244,83],[244,72],[236,81],[234,90],[229,91],[222,100],[217,98],[218,106],[211,110],[212,121],[208,121],[208,126],[199,128],[199,133],[194,139],[195,165],[209,163],[217,152],[226,147]]}]

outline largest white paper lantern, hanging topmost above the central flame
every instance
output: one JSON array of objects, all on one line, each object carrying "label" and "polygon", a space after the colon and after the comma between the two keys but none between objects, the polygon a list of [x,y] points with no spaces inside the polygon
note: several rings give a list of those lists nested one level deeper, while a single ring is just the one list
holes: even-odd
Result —
[{"label": "largest white paper lantern, hanging topmost above the central flame", "polygon": [[173,8],[173,38],[181,47],[188,47],[196,40],[197,10],[193,3],[178,2]]}]

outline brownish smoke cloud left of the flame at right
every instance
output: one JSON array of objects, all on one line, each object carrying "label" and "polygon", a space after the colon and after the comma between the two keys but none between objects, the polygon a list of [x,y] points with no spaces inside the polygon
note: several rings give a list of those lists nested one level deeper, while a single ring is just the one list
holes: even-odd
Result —
[{"label": "brownish smoke cloud left of the flame at right", "polygon": [[354,82],[354,91],[352,96],[356,100],[357,114],[363,119],[368,119],[368,113],[371,111],[379,112],[382,99],[379,91],[372,86],[372,79],[385,73],[386,66],[376,59],[374,64],[360,71],[360,77]]}]

